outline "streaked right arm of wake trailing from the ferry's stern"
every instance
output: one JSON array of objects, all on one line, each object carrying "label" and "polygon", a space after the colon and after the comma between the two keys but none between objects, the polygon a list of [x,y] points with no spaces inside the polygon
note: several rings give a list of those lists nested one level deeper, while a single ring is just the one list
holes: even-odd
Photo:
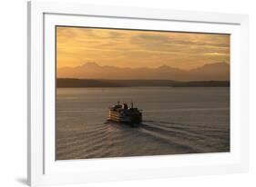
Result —
[{"label": "streaked right arm of wake trailing from the ferry's stern", "polygon": [[166,143],[174,143],[188,153],[229,151],[229,129],[221,125],[144,121],[139,131]]}]

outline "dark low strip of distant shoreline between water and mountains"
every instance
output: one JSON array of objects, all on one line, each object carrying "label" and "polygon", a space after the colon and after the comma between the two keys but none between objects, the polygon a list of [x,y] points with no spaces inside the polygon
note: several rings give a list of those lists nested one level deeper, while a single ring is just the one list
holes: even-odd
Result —
[{"label": "dark low strip of distant shoreline between water and mountains", "polygon": [[57,88],[83,87],[230,87],[230,81],[190,81],[172,80],[106,80],[106,79],[75,79],[57,78]]}]

